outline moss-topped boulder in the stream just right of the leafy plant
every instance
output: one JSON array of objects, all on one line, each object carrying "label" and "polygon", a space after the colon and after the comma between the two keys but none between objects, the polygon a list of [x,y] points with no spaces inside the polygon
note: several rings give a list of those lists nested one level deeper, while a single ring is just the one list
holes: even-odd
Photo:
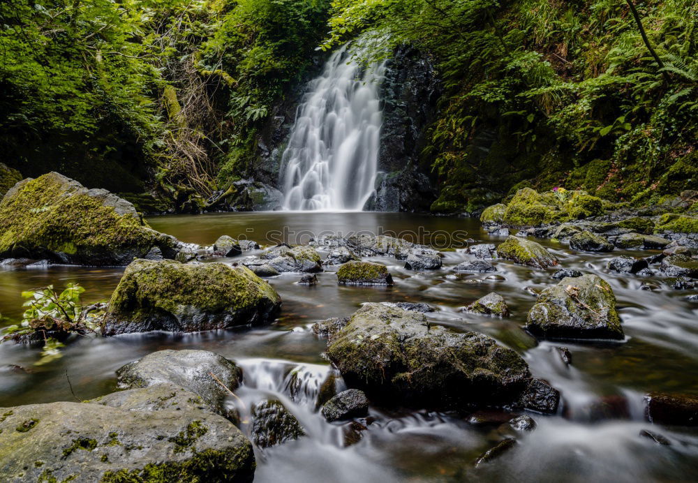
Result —
[{"label": "moss-topped boulder in the stream just right of the leafy plant", "polygon": [[269,322],[281,298],[247,267],[135,260],[112,294],[103,334],[197,332]]}]

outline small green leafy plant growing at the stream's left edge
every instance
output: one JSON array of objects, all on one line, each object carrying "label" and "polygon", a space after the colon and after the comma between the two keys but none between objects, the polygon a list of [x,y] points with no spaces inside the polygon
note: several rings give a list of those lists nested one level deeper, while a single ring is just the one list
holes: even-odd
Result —
[{"label": "small green leafy plant growing at the stream's left edge", "polygon": [[19,325],[10,325],[0,341],[44,341],[41,359],[36,365],[46,364],[61,357],[61,343],[70,334],[85,335],[98,332],[104,304],[84,306],[80,294],[84,292],[77,283],[68,283],[63,292],[56,292],[53,285],[22,292],[27,310]]}]

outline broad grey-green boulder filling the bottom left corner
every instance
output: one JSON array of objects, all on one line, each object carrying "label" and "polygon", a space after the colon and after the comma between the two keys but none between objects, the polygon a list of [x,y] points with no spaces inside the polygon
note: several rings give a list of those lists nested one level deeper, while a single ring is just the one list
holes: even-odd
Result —
[{"label": "broad grey-green boulder filling the bottom left corner", "polygon": [[251,482],[255,470],[249,440],[207,411],[61,402],[0,414],[6,482]]}]

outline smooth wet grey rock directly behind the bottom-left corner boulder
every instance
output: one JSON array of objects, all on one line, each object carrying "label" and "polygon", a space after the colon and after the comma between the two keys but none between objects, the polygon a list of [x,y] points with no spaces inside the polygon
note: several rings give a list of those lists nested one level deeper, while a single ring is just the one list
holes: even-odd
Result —
[{"label": "smooth wet grey rock directly behind the bottom-left corner boulder", "polygon": [[229,393],[221,384],[235,391],[241,380],[242,370],[234,362],[207,350],[158,350],[117,370],[121,389],[174,384],[200,396],[214,413],[226,416],[223,399]]}]

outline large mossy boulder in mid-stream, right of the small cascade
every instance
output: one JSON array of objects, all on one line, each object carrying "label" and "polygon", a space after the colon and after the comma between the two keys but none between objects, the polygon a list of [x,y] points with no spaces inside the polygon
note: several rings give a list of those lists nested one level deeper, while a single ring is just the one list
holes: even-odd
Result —
[{"label": "large mossy boulder in mid-stream, right of the small cascade", "polygon": [[349,387],[396,404],[454,407],[516,399],[530,374],[511,349],[431,326],[423,313],[365,304],[331,334],[327,356]]}]

